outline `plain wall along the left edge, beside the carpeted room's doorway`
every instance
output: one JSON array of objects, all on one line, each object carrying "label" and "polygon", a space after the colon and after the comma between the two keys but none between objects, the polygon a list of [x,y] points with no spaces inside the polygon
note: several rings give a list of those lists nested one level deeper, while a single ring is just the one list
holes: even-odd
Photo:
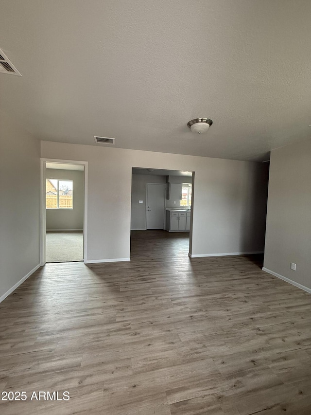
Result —
[{"label": "plain wall along the left edge, beside the carpeted room's doorway", "polygon": [[40,263],[40,142],[0,111],[0,300]]}]

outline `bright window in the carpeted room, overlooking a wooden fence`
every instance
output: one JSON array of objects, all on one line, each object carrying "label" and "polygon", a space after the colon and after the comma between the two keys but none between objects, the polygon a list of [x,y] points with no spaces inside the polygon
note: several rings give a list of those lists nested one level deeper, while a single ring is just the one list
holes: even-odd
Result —
[{"label": "bright window in the carpeted room, overlooking a wooden fence", "polygon": [[72,209],[72,180],[46,180],[47,209]]}]

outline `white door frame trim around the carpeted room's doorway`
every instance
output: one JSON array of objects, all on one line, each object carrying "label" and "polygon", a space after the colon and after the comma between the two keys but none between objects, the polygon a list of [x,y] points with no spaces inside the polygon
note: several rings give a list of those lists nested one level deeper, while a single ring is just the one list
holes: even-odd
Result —
[{"label": "white door frame trim around the carpeted room's doorway", "polygon": [[41,181],[40,181],[40,266],[46,264],[46,164],[79,164],[84,166],[84,212],[83,212],[83,262],[87,262],[87,162],[81,160],[60,160],[60,159],[40,159]]}]

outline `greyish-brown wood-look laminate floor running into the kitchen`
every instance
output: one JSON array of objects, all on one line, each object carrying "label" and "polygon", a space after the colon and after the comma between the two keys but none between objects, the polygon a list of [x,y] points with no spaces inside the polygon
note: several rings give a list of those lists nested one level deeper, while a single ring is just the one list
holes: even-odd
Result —
[{"label": "greyish-brown wood-look laminate floor running into the kitchen", "polygon": [[7,297],[0,390],[27,400],[0,414],[310,415],[311,295],[188,243],[135,231],[131,262],[48,264]]}]

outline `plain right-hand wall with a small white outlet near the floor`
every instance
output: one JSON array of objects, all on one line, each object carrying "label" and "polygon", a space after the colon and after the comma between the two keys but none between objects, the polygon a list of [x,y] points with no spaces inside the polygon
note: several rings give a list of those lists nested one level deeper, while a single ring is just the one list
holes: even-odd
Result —
[{"label": "plain right-hand wall with a small white outlet near the floor", "polygon": [[271,152],[264,268],[311,289],[310,139]]}]

